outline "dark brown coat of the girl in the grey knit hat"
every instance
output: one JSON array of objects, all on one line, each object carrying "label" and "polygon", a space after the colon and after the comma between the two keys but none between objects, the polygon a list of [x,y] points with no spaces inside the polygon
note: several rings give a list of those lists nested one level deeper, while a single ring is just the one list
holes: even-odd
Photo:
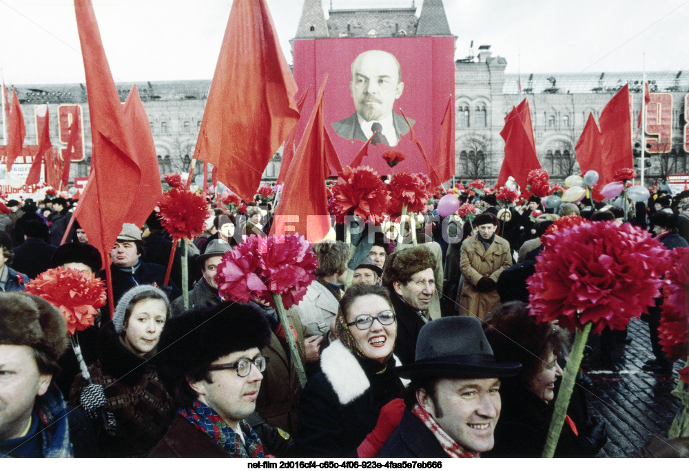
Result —
[{"label": "dark brown coat of the girl in the grey knit hat", "polygon": [[[112,322],[99,336],[99,359],[88,368],[95,384],[102,384],[107,412],[114,415],[116,435],[101,433],[101,450],[107,457],[145,457],[163,437],[175,413],[156,367],[125,348]],[[80,404],[79,393],[88,385],[82,375],[72,384],[70,404]]]}]

